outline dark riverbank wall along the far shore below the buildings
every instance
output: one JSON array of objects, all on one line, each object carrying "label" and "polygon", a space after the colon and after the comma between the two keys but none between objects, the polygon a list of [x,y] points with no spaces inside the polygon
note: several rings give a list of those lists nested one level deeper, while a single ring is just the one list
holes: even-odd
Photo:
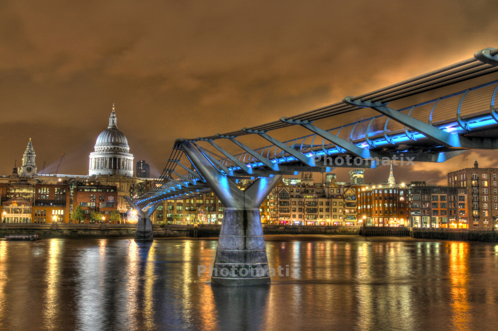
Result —
[{"label": "dark riverbank wall along the far shore below the buildings", "polygon": [[[0,223],[0,238],[7,234],[38,234],[40,238],[134,238],[135,224]],[[221,225],[153,225],[155,238],[218,237]],[[263,233],[361,235],[365,237],[410,236],[415,239],[498,242],[498,231],[447,228],[263,224]]]}]

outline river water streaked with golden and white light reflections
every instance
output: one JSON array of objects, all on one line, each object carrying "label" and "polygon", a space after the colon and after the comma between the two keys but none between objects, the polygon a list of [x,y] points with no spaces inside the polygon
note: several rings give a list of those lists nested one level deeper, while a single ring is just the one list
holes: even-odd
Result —
[{"label": "river water streaked with golden and white light reflections", "polygon": [[244,288],[198,276],[216,246],[0,241],[0,330],[498,330],[498,244],[266,241],[300,275]]}]

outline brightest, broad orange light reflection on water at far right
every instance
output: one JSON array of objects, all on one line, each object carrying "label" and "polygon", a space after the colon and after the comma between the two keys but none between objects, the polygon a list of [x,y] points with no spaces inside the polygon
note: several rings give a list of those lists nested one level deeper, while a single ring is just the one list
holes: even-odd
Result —
[{"label": "brightest, broad orange light reflection on water at far right", "polygon": [[467,330],[470,322],[468,244],[450,244],[449,277],[451,280],[451,306],[453,325],[457,330]]}]

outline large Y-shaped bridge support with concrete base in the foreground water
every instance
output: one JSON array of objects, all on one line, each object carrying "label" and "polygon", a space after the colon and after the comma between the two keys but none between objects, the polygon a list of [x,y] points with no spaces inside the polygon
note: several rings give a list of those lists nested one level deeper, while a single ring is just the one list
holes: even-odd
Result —
[{"label": "large Y-shaped bridge support with concrete base in the foreground water", "polygon": [[259,178],[242,191],[190,142],[180,145],[225,206],[211,282],[224,286],[269,284],[259,207],[282,176]]}]

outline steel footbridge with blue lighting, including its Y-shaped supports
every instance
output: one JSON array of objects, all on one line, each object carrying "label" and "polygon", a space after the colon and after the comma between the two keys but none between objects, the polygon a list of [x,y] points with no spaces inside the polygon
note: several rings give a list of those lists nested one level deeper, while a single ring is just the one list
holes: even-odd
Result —
[{"label": "steel footbridge with blue lighting, including its Y-shaped supports", "polygon": [[[498,149],[496,72],[498,49],[486,48],[467,60],[315,110],[238,131],[176,139],[158,185],[133,201],[127,199],[139,215],[135,239],[152,240],[150,215],[162,201],[214,191],[225,214],[212,283],[268,284],[259,207],[282,175],[330,172],[337,167],[375,168],[382,160],[444,162],[468,149]],[[482,84],[465,90],[455,85],[476,78]],[[429,91],[445,95],[401,109],[389,107],[390,102],[406,105],[423,100]],[[365,117],[371,113],[365,108],[377,115]],[[319,120],[347,112],[363,117],[333,128],[319,126]],[[287,141],[272,134],[296,126],[310,134]],[[240,139],[245,135],[260,136],[268,144],[250,147]],[[220,146],[222,139],[232,141],[242,153],[229,153]],[[242,179],[253,180],[246,190],[236,185]],[[223,268],[232,272],[222,275],[218,271]]]}]

